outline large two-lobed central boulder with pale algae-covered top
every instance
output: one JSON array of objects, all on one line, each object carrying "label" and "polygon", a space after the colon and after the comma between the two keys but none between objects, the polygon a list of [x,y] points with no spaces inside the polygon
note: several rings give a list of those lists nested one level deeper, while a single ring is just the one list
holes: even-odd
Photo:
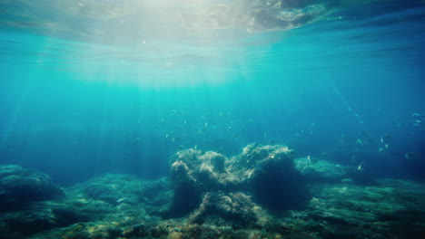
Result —
[{"label": "large two-lobed central boulder with pale algae-covered top", "polygon": [[171,178],[172,217],[195,210],[203,216],[214,212],[223,218],[235,217],[211,206],[209,198],[223,201],[241,194],[251,195],[253,203],[260,206],[281,210],[302,202],[306,191],[294,166],[292,150],[281,145],[251,144],[243,148],[241,155],[230,159],[213,151],[179,151],[171,158]]}]

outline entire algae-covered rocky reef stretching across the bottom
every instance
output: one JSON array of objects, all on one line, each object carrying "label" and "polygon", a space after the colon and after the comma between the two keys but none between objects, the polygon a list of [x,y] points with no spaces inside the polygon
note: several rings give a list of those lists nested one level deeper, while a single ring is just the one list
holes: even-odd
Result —
[{"label": "entire algae-covered rocky reef stretching across the bottom", "polygon": [[170,167],[170,177],[157,180],[106,174],[67,188],[35,171],[0,167],[1,200],[14,205],[0,215],[0,237],[401,239],[425,234],[423,184],[378,178],[359,184],[356,168],[295,158],[282,145],[251,144],[231,158],[191,148],[173,155]]}]

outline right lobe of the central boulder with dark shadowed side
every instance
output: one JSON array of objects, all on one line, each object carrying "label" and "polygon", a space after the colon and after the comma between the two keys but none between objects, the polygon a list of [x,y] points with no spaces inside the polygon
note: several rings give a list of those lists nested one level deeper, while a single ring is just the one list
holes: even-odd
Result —
[{"label": "right lobe of the central boulder with dark shadowed side", "polygon": [[232,158],[232,165],[262,206],[282,210],[299,206],[305,199],[307,190],[288,147],[254,143],[243,148],[242,155]]}]

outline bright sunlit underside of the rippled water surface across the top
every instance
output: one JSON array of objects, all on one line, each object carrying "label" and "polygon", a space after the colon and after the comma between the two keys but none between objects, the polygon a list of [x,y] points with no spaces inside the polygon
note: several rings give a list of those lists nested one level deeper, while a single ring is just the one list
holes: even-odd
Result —
[{"label": "bright sunlit underside of the rippled water surface across the top", "polygon": [[[331,14],[300,28],[248,33],[241,24],[187,29],[176,18],[175,13],[184,11],[204,13],[221,1],[5,1],[0,62],[36,71],[114,72],[114,78],[172,77],[184,83],[201,82],[201,77],[228,81],[232,72],[314,72],[389,61],[420,64],[423,57],[416,48],[424,39],[423,7],[396,11],[391,6],[373,14],[374,8],[367,7],[373,2],[342,1],[329,6]],[[364,9],[369,14],[352,17]]]}]

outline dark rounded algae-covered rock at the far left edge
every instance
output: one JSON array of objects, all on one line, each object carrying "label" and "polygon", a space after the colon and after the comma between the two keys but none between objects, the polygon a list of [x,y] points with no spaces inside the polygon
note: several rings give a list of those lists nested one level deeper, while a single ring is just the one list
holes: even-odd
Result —
[{"label": "dark rounded algae-covered rock at the far left edge", "polygon": [[0,167],[0,211],[64,196],[47,175],[19,166]]}]

